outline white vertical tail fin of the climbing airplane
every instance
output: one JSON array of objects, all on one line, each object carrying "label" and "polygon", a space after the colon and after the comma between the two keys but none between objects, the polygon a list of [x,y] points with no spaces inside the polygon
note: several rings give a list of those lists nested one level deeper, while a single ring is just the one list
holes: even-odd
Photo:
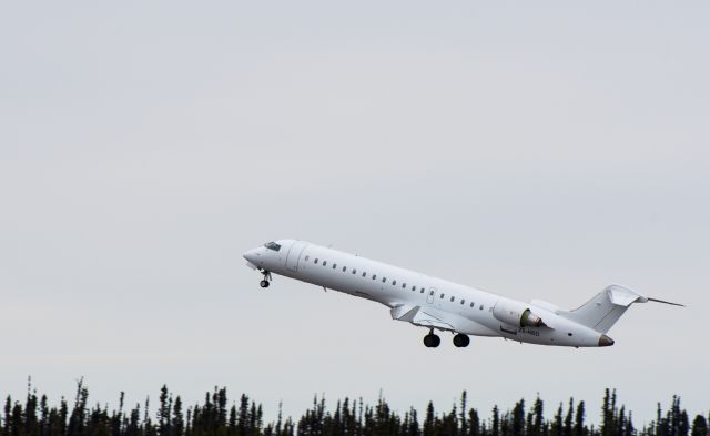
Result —
[{"label": "white vertical tail fin of the climbing airplane", "polygon": [[610,285],[580,307],[560,312],[560,315],[599,333],[607,333],[632,303],[648,301],[649,298],[628,287]]}]

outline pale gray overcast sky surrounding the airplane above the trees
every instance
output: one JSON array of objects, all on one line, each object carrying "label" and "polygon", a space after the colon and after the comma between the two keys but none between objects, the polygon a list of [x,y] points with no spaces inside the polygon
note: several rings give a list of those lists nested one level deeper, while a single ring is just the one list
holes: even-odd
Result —
[{"label": "pale gray overcast sky surrounding the airplane above the trees", "polygon": [[[295,414],[617,387],[707,412],[707,2],[0,6],[0,395],[166,383]],[[296,237],[521,300],[637,305],[617,344],[448,337],[276,277]],[[704,386],[703,386],[704,385]],[[703,403],[704,400],[704,403]]]}]

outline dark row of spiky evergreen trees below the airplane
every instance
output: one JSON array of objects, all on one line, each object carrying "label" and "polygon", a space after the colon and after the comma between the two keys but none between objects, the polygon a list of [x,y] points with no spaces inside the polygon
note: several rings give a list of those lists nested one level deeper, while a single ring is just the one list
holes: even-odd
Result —
[{"label": "dark row of spiky evergreen trees below the airplane", "polygon": [[397,413],[384,398],[366,404],[362,398],[337,400],[328,409],[324,397],[300,417],[284,417],[281,405],[276,419],[265,422],[261,404],[242,394],[230,402],[226,388],[214,388],[201,404],[186,406],[163,386],[156,410],[150,400],[124,405],[121,393],[118,409],[89,404],[89,391],[78,383],[73,402],[61,398],[48,404],[45,395],[28,386],[23,400],[8,396],[0,414],[0,436],[710,436],[710,415],[691,418],[673,396],[667,410],[658,404],[656,419],[636,427],[631,410],[617,402],[616,391],[606,389],[601,402],[600,424],[588,424],[585,402],[572,398],[555,407],[551,419],[545,418],[539,396],[528,407],[524,399],[513,407],[494,406],[483,416],[468,406],[464,392],[458,404],[438,412],[432,402],[420,417],[417,410]]}]

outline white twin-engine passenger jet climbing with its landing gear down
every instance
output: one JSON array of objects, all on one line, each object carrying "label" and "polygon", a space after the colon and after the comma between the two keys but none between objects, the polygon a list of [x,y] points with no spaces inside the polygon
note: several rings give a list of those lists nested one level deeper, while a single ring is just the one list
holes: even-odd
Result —
[{"label": "white twin-engine passenger jet climbing with its landing gear down", "polygon": [[272,273],[384,304],[394,320],[426,327],[424,345],[437,347],[434,331],[454,333],[465,347],[469,335],[574,347],[613,345],[607,332],[632,303],[682,304],[649,298],[610,285],[574,311],[532,300],[524,303],[414,271],[371,261],[305,241],[280,240],[244,253],[267,287]]}]

